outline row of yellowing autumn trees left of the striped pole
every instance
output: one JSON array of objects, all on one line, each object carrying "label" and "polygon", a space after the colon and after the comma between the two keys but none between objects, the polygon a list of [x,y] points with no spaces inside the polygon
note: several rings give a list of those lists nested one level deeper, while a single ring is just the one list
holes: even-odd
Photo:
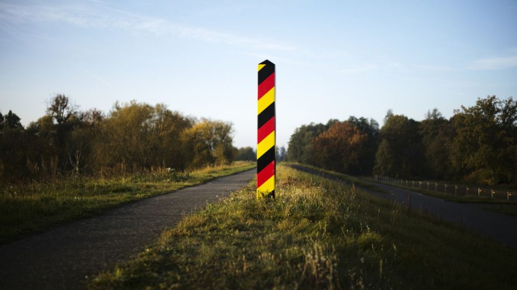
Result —
[{"label": "row of yellowing autumn trees left of the striped pole", "polygon": [[186,117],[164,104],[117,102],[105,114],[81,111],[57,94],[27,127],[12,111],[0,113],[0,181],[228,164],[238,154],[232,135],[231,123]]}]

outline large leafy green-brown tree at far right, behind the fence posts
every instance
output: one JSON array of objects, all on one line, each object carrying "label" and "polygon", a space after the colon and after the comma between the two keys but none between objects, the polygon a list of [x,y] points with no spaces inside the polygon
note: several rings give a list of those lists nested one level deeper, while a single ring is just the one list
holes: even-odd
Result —
[{"label": "large leafy green-brown tree at far right, behind the fence posts", "polygon": [[454,111],[452,163],[457,170],[465,168],[471,180],[489,184],[515,178],[516,107],[512,98],[501,102],[493,95]]}]

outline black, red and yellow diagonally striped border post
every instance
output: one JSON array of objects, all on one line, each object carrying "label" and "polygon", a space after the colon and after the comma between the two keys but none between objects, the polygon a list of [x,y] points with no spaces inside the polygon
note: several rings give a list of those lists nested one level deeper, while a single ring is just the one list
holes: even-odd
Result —
[{"label": "black, red and yellow diagonally striped border post", "polygon": [[258,64],[257,200],[275,198],[275,64]]}]

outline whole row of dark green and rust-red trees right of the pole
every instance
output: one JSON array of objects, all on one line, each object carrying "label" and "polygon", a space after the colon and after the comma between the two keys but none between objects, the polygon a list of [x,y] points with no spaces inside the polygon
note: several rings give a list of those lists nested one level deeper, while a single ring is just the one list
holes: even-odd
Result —
[{"label": "whole row of dark green and rust-red trees right of the pole", "polygon": [[433,109],[422,121],[388,110],[382,128],[356,117],[302,125],[286,156],[348,174],[515,184],[517,102],[487,96],[449,119]]}]

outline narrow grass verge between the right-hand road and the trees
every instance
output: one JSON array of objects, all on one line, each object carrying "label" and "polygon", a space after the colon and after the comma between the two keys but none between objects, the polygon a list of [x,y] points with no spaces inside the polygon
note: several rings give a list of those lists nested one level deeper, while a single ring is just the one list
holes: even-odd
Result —
[{"label": "narrow grass verge between the right-hand road and the trees", "polygon": [[[288,163],[289,165],[292,165],[292,166],[300,166],[300,167],[304,167],[304,168],[308,168],[308,169],[311,169],[311,170],[316,170],[316,171],[319,171],[319,172],[323,172],[327,175],[331,175],[331,176],[334,176],[336,178],[339,178],[339,179],[342,179],[342,180],[346,180],[348,182],[353,182],[357,185],[360,185],[364,188],[369,188],[369,189],[372,189],[372,190],[375,190],[377,192],[383,192],[385,194],[387,194],[388,192],[378,186],[375,186],[374,184],[374,181],[372,178],[357,178],[355,176],[351,176],[351,175],[347,175],[347,174],[343,174],[343,173],[338,173],[338,172],[333,172],[333,171],[329,171],[329,170],[324,170],[324,169],[321,169],[321,168],[317,168],[317,167],[314,167],[314,166],[311,166],[311,165],[306,165],[306,164],[298,164],[298,163]],[[435,198],[439,198],[439,199],[443,199],[443,200],[446,200],[446,201],[451,201],[451,202],[459,202],[459,203],[483,203],[483,204],[486,204],[486,206],[484,206],[483,208],[485,208],[485,210],[489,210],[489,211],[493,211],[493,212],[497,212],[497,213],[501,213],[501,214],[505,214],[505,215],[509,215],[509,216],[514,216],[514,217],[517,217],[517,202],[516,201],[506,201],[506,200],[501,200],[501,199],[491,199],[491,198],[488,198],[488,197],[477,197],[476,195],[471,195],[471,196],[454,196],[454,195],[451,195],[451,194],[445,194],[444,192],[439,192],[439,191],[434,191],[434,190],[427,190],[427,189],[423,189],[423,188],[417,188],[417,187],[410,187],[410,186],[403,186],[403,185],[400,185],[400,184],[391,184],[391,183],[386,183],[387,185],[389,186],[393,186],[393,187],[398,187],[398,188],[402,188],[402,189],[407,189],[407,190],[411,190],[411,191],[415,191],[415,192],[419,192],[420,194],[422,195],[427,195],[427,196],[432,196],[432,197],[435,197]],[[503,191],[503,190],[500,190],[500,191]]]}]

